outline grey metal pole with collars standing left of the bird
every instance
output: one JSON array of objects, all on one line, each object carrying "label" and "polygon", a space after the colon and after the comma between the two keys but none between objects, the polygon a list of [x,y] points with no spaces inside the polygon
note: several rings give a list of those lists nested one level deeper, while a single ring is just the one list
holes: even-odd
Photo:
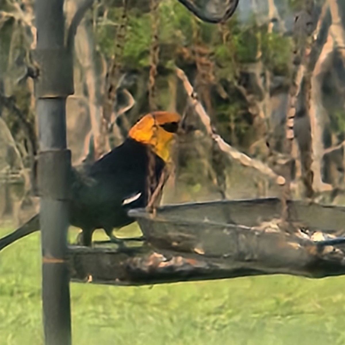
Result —
[{"label": "grey metal pole with collars standing left of the bird", "polygon": [[63,0],[36,0],[35,13],[44,335],[46,345],[70,345],[66,256],[71,155],[66,143],[66,98],[73,94],[72,52],[64,43]]}]

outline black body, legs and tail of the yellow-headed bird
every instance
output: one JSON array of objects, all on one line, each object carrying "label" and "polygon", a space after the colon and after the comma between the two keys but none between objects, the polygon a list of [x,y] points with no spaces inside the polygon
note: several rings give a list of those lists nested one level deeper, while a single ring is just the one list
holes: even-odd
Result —
[{"label": "black body, legs and tail of the yellow-headed bird", "polygon": [[[98,228],[104,229],[115,242],[120,242],[112,236],[112,230],[135,221],[127,215],[130,208],[147,205],[149,154],[154,157],[153,180],[156,181],[150,186],[151,193],[165,166],[164,160],[149,150],[148,145],[127,138],[93,164],[72,168],[69,221],[82,229],[79,244],[91,245],[92,233]],[[39,215],[35,215],[22,227],[1,238],[0,250],[39,229]]]}]

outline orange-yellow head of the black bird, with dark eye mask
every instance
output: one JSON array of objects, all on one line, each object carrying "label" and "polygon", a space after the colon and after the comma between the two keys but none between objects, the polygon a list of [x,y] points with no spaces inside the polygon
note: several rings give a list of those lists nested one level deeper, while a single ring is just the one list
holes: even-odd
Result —
[{"label": "orange-yellow head of the black bird, with dark eye mask", "polygon": [[175,112],[155,111],[142,117],[129,131],[130,138],[150,145],[165,162],[170,161],[172,139],[181,117]]}]

